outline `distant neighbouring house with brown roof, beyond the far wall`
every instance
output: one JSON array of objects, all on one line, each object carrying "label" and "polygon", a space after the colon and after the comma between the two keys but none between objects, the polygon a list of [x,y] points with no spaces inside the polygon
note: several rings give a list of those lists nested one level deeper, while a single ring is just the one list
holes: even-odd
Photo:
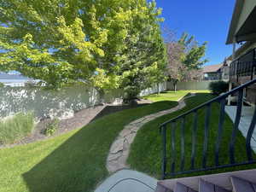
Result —
[{"label": "distant neighbouring house with brown roof, beyond the far wall", "polygon": [[203,67],[203,80],[229,80],[230,61],[225,60],[221,64]]}]

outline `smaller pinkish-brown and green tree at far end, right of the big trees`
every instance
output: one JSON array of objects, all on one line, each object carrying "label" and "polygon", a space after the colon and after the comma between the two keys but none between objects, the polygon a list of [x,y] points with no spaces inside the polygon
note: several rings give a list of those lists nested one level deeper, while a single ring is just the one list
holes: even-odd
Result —
[{"label": "smaller pinkish-brown and green tree at far end, right of the big trees", "polygon": [[193,36],[183,33],[176,39],[170,29],[165,29],[168,64],[166,76],[177,90],[178,81],[200,79],[201,66],[207,62],[204,59],[207,43],[198,44]]}]

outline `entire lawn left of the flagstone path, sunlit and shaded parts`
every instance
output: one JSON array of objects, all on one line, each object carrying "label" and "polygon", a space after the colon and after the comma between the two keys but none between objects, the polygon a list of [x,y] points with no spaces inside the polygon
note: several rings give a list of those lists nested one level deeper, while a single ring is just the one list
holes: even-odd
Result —
[{"label": "entire lawn left of the flagstone path, sunlit and shaded parts", "polygon": [[0,149],[1,192],[89,192],[108,177],[108,150],[132,120],[173,108],[154,102],[96,119],[82,129],[38,143]]}]

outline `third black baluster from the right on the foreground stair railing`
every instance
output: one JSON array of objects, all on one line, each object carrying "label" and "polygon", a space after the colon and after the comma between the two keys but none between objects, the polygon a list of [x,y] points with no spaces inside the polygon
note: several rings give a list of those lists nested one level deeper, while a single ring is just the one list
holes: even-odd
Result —
[{"label": "third black baluster from the right on the foreground stair railing", "polygon": [[224,125],[225,104],[226,104],[226,99],[224,98],[220,101],[220,112],[219,112],[219,118],[218,118],[218,137],[217,137],[216,147],[215,147],[215,165],[216,166],[219,166],[218,154],[219,154],[219,144],[221,142],[223,125]]}]

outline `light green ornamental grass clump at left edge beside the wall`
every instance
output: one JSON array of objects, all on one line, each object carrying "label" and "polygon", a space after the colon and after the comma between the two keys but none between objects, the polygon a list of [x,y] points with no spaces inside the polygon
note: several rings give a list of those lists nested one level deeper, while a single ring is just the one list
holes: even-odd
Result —
[{"label": "light green ornamental grass clump at left edge beside the wall", "polygon": [[26,137],[34,128],[33,113],[16,113],[0,121],[0,143],[11,144]]}]

